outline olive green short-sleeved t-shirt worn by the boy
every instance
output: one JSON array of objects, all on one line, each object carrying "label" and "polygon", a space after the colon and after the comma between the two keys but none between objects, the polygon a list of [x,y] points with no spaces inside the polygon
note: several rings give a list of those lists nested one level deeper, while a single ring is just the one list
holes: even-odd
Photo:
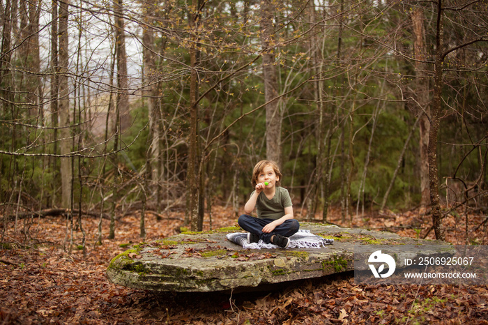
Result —
[{"label": "olive green short-sleeved t-shirt worn by the boy", "polygon": [[[254,190],[254,192],[256,191]],[[254,192],[251,193],[251,196]],[[280,219],[284,216],[284,208],[292,205],[288,190],[277,186],[275,196],[272,199],[268,199],[264,192],[259,193],[256,200],[257,217],[261,219]]]}]

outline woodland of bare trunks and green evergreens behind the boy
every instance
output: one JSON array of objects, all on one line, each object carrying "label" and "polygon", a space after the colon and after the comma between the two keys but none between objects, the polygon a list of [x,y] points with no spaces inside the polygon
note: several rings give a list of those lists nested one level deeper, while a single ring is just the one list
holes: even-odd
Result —
[{"label": "woodland of bare trunks and green evergreens behind the boy", "polygon": [[197,230],[265,158],[303,220],[487,211],[487,1],[0,3],[3,222]]}]

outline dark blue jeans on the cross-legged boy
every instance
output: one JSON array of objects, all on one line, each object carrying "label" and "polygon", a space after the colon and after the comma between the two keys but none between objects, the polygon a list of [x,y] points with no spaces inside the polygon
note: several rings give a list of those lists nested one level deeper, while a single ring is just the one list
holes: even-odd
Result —
[{"label": "dark blue jeans on the cross-legged boy", "polygon": [[252,234],[259,235],[259,239],[264,241],[265,243],[271,242],[271,237],[274,234],[280,234],[285,237],[289,237],[296,232],[300,228],[300,224],[295,219],[285,220],[281,225],[277,226],[273,232],[266,234],[263,232],[263,227],[268,225],[268,223],[275,221],[274,219],[259,219],[254,218],[252,216],[248,216],[247,214],[243,214],[237,220],[237,223],[247,232]]}]

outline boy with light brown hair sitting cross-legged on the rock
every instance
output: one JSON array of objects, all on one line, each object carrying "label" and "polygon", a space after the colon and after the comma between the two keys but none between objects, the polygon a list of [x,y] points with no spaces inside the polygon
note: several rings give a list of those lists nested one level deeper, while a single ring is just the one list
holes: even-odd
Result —
[{"label": "boy with light brown hair sitting cross-legged on the rock", "polygon": [[[247,241],[273,243],[287,248],[289,236],[298,232],[300,224],[293,219],[293,206],[288,190],[280,186],[282,174],[276,162],[261,160],[254,166],[252,186],[255,190],[244,206],[238,224],[249,232]],[[249,216],[257,207],[257,218]]]}]

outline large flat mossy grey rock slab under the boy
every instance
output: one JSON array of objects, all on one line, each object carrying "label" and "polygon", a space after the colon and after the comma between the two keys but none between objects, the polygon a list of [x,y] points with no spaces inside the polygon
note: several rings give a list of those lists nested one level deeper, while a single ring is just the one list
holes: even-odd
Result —
[{"label": "large flat mossy grey rock slab under the boy", "polygon": [[[183,233],[139,243],[114,257],[107,269],[118,285],[162,292],[216,292],[353,271],[358,245],[445,245],[390,232],[304,223],[300,229],[334,239],[323,248],[246,250],[226,239],[238,227]],[[365,266],[367,267],[367,266]]]}]

